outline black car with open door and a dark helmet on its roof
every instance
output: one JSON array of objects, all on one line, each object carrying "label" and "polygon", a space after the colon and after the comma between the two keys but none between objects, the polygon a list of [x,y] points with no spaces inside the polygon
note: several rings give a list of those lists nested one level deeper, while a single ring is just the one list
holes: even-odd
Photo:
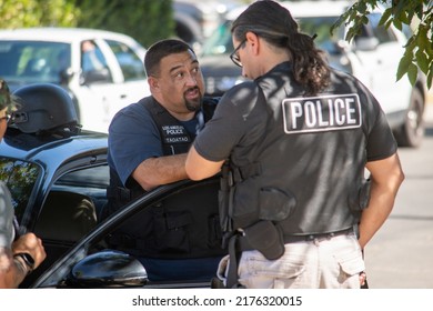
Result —
[{"label": "black car with open door and a dark helmet on its roof", "polygon": [[100,221],[109,184],[108,136],[80,130],[73,103],[60,87],[23,89],[16,93],[34,104],[14,112],[0,143],[0,179],[11,191],[20,231],[42,239],[47,259],[21,288],[209,287],[189,280],[148,282],[144,267],[110,250],[105,240],[140,211],[180,193],[216,189],[219,180],[157,188]]}]

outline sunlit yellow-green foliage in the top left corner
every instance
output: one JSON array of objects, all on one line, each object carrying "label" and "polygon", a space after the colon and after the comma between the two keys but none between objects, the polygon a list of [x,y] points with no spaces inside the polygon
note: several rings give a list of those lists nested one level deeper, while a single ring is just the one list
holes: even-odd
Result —
[{"label": "sunlit yellow-green foliage in the top left corner", "polygon": [[73,27],[77,12],[70,0],[0,0],[0,28]]}]

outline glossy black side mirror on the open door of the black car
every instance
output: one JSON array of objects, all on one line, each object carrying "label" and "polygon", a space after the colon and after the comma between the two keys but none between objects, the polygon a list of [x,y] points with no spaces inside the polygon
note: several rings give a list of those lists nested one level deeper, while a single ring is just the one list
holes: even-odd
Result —
[{"label": "glossy black side mirror on the open door of the black car", "polygon": [[137,288],[148,282],[148,273],[132,255],[104,250],[75,263],[66,282],[74,288]]}]

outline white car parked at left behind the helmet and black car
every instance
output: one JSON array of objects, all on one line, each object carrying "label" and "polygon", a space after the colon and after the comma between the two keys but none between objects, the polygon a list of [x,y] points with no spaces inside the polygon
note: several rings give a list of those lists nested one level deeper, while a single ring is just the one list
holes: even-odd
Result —
[{"label": "white car parked at left behind the helmet and black car", "polygon": [[12,90],[36,82],[63,87],[83,129],[107,132],[122,107],[150,94],[145,49],[115,32],[74,28],[0,31],[0,77]]}]

